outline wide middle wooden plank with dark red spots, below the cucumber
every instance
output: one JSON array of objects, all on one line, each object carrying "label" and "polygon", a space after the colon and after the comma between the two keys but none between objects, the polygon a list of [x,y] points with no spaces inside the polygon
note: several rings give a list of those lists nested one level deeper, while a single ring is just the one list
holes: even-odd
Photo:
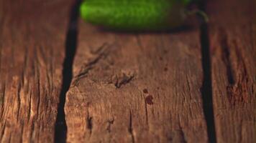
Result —
[{"label": "wide middle wooden plank with dark red spots, below the cucumber", "polygon": [[198,29],[127,34],[81,21],[67,142],[207,142]]}]

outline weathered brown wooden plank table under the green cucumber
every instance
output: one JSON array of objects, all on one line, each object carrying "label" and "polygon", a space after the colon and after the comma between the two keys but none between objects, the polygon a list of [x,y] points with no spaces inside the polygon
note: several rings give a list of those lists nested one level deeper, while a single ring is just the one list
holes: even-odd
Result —
[{"label": "weathered brown wooden plank table under the green cucumber", "polygon": [[0,0],[0,142],[256,142],[256,2],[101,31],[71,0]]}]

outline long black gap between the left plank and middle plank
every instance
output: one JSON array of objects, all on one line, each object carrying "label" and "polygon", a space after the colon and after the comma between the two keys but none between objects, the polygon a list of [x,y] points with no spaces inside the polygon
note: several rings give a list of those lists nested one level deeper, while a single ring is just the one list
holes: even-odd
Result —
[{"label": "long black gap between the left plank and middle plank", "polygon": [[66,142],[67,124],[65,121],[65,94],[68,92],[73,78],[73,59],[76,54],[77,34],[78,34],[78,16],[81,0],[76,0],[71,11],[68,24],[68,33],[65,39],[65,59],[63,62],[63,81],[60,90],[58,114],[55,121],[55,142]]}]

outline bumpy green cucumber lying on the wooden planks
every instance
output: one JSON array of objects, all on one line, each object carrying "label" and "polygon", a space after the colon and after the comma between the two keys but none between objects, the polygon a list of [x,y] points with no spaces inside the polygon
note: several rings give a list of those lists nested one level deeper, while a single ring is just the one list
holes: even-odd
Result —
[{"label": "bumpy green cucumber lying on the wooden planks", "polygon": [[87,0],[81,17],[107,29],[147,31],[173,29],[186,19],[191,0]]}]

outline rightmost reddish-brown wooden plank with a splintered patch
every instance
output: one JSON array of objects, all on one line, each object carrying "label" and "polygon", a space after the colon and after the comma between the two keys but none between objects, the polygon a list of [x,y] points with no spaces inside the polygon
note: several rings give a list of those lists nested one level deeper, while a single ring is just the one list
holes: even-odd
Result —
[{"label": "rightmost reddish-brown wooden plank with a splintered patch", "polygon": [[207,6],[217,142],[256,142],[254,2],[216,0]]}]

